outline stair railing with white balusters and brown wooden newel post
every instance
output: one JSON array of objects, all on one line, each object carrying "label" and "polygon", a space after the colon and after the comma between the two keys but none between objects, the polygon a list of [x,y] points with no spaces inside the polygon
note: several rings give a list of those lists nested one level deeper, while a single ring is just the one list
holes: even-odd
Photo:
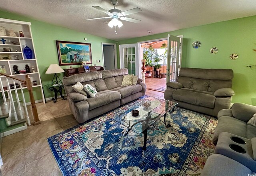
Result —
[{"label": "stair railing with white balusters and brown wooden newel post", "polygon": [[[16,87],[18,85],[20,86],[20,90],[21,90],[21,95],[22,95],[22,101],[23,101],[23,104],[24,104],[24,111],[25,111],[25,115],[26,115],[26,120],[28,122],[28,125],[31,125],[30,124],[30,119],[29,119],[29,116],[28,116],[28,110],[27,110],[27,107],[26,107],[26,101],[25,101],[25,97],[24,97],[24,93],[23,93],[23,89],[22,89],[22,88],[24,88],[24,87],[22,87],[22,83],[26,83],[26,87],[28,89],[28,93],[29,93],[29,97],[30,97],[30,103],[31,103],[31,107],[32,107],[32,114],[33,114],[33,117],[34,117],[34,125],[40,124],[37,109],[36,109],[36,103],[35,103],[34,95],[33,95],[33,91],[32,91],[30,76],[26,75],[26,80],[22,80],[22,79],[18,79],[16,77],[12,77],[10,75],[6,75],[4,73],[0,73],[0,75],[5,76],[5,78],[6,78],[6,84],[7,84],[7,87],[8,87],[8,96],[10,97],[10,106],[13,107],[13,113],[14,113],[15,121],[18,121],[18,117],[17,117],[16,109],[14,107],[14,99],[12,97],[12,90],[13,89],[11,89],[11,87],[10,87],[9,79],[11,79],[11,81],[13,83],[13,86],[14,86],[14,92],[15,92],[15,95],[16,95],[16,100],[17,100],[17,104],[18,104],[18,113],[20,114],[20,119],[24,119],[24,117],[23,117],[22,107],[20,105],[20,99],[18,97],[18,91],[17,91],[17,87]],[[2,91],[2,96],[3,96],[3,101],[4,101],[4,109],[5,109],[6,114],[7,114],[7,113],[9,113],[8,112],[8,104],[7,104],[6,96],[5,96],[5,93],[4,93],[4,86],[3,86],[2,78],[4,78],[4,77],[0,77],[0,88],[1,88],[1,91]],[[18,81],[18,85],[16,85],[17,83],[15,82],[15,80]]]}]

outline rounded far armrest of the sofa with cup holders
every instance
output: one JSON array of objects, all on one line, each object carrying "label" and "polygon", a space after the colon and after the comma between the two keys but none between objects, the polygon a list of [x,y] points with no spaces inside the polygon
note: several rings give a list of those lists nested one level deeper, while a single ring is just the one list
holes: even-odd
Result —
[{"label": "rounded far armrest of the sofa with cup holders", "polygon": [[256,113],[256,106],[244,103],[234,103],[232,106],[232,114],[236,119],[248,122]]}]

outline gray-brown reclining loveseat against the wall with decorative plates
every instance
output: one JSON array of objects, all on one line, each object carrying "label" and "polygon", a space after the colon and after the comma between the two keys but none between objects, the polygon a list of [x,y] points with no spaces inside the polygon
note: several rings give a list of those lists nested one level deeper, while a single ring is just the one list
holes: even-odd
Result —
[{"label": "gray-brown reclining loveseat against the wall with decorative plates", "polygon": [[168,82],[164,99],[178,106],[217,116],[229,109],[234,95],[231,69],[181,68],[177,81]]}]

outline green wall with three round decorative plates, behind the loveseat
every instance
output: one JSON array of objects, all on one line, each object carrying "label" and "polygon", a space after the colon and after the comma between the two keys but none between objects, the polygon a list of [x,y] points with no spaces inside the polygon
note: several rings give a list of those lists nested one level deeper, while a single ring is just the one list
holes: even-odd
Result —
[{"label": "green wall with three round decorative plates, behind the loveseat", "polygon": [[[182,67],[232,69],[232,88],[236,93],[232,102],[256,105],[256,68],[246,67],[256,64],[256,52],[252,50],[256,49],[256,16],[122,40],[118,44],[166,38],[168,34],[183,35]],[[195,40],[202,43],[199,49],[192,48]],[[210,54],[214,46],[219,52]],[[229,59],[231,53],[238,53],[239,58]]]}]

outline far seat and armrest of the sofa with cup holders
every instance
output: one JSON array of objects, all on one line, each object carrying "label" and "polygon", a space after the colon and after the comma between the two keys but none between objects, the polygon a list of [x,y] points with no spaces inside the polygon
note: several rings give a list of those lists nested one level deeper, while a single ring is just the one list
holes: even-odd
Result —
[{"label": "far seat and armrest of the sofa with cup holders", "polygon": [[229,132],[244,138],[256,137],[256,127],[246,124],[256,113],[256,107],[244,103],[234,103],[232,109],[222,109],[218,113],[213,143],[216,145],[221,132]]}]

